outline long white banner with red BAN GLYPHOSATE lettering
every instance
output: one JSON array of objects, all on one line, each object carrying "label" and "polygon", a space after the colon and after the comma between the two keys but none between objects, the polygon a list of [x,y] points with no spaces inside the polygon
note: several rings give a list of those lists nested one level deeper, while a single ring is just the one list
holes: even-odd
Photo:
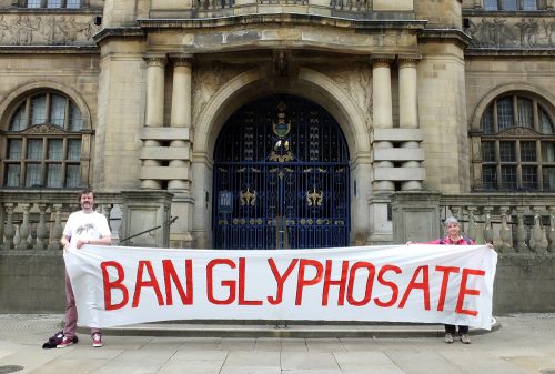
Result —
[{"label": "long white banner with red BAN GLYPHOSATE lettering", "polygon": [[497,254],[481,245],[64,251],[79,324],[169,320],[492,324]]}]

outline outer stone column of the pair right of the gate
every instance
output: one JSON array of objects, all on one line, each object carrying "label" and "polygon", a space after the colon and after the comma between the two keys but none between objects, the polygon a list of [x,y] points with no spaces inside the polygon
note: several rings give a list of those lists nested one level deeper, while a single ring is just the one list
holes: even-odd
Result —
[{"label": "outer stone column of the pair right of the gate", "polygon": [[[400,58],[398,60],[398,124],[402,129],[418,128],[418,102],[417,102],[417,74],[416,58]],[[404,149],[418,149],[416,141],[407,141],[401,144]],[[402,168],[420,168],[418,161],[405,161]],[[420,181],[404,181],[401,183],[403,191],[421,191]]]}]

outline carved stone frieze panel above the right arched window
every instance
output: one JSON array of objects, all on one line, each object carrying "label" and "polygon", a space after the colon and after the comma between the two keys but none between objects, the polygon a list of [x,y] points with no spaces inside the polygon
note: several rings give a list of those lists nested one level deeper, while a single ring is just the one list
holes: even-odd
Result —
[{"label": "carved stone frieze panel above the right arched window", "polygon": [[473,18],[466,30],[480,48],[544,48],[555,46],[555,19]]}]

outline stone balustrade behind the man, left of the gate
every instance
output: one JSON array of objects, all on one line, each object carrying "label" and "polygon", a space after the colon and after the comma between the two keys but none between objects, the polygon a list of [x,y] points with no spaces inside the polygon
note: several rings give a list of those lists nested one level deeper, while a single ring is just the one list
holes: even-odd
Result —
[{"label": "stone balustrade behind the man, left of the gate", "polygon": [[[75,191],[0,191],[0,251],[58,251],[69,214],[80,209],[78,194]],[[94,196],[97,211],[104,214],[112,230],[113,244],[169,246],[171,193],[95,192]],[[150,232],[151,229],[154,231]],[[133,239],[125,240],[130,236]]]}]

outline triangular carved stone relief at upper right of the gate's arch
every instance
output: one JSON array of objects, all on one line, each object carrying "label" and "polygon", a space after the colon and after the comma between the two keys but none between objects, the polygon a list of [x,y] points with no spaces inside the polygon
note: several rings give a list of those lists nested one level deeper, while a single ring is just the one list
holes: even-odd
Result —
[{"label": "triangular carved stone relief at upper right of the gate's arch", "polygon": [[354,63],[337,65],[309,67],[337,83],[363,113],[372,119],[372,71],[370,64]]}]

